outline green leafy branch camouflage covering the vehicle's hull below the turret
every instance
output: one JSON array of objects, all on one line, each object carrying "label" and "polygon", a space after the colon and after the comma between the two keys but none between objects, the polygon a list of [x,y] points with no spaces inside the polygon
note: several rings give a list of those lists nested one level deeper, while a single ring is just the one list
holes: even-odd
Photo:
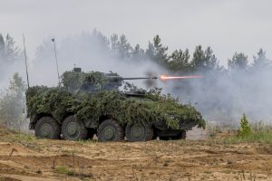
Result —
[{"label": "green leafy branch camouflage covering the vehicle's hull below the turret", "polygon": [[59,122],[72,112],[83,121],[98,121],[102,116],[109,116],[122,125],[166,121],[170,129],[179,129],[182,121],[194,122],[199,128],[205,128],[199,111],[156,91],[142,98],[129,97],[116,90],[74,96],[63,88],[33,87],[27,90],[26,98],[29,116],[49,113]]}]

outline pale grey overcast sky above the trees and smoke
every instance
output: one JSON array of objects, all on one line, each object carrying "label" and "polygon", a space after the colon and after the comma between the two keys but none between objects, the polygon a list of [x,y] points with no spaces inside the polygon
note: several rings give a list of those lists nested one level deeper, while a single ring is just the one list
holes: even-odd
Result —
[{"label": "pale grey overcast sky above the trees and smoke", "polygon": [[272,59],[270,0],[0,0],[0,33],[10,33],[29,55],[45,38],[92,32],[124,33],[146,48],[159,34],[170,51],[211,46],[222,64],[234,52],[260,47]]}]

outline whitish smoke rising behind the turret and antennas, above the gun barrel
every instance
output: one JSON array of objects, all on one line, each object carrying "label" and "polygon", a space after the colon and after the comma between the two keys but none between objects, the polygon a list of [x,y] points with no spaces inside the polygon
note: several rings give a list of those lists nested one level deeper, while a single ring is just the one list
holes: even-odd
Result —
[{"label": "whitish smoke rising behind the turret and antennas, above the gun barrel", "polygon": [[[60,74],[71,71],[74,66],[83,71],[117,72],[122,77],[143,77],[148,71],[161,72],[156,63],[149,60],[126,61],[114,58],[98,37],[90,33],[81,33],[64,40],[56,40],[57,60]],[[32,85],[57,85],[57,69],[53,42],[48,38],[37,48],[36,57],[30,69]],[[132,81],[144,86],[143,81]]]}]

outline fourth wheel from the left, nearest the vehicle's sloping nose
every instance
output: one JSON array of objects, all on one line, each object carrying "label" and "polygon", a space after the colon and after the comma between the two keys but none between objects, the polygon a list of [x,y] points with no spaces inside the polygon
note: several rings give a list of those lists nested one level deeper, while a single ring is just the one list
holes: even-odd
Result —
[{"label": "fourth wheel from the left, nearest the vehicle's sloping nose", "polygon": [[146,124],[134,123],[126,126],[126,138],[131,141],[148,141],[153,138],[153,129]]}]

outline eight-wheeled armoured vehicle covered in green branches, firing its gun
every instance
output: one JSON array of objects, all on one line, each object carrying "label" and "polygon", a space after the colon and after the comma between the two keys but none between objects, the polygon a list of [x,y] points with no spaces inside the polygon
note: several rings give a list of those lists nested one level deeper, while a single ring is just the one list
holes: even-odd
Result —
[{"label": "eight-wheeled armoured vehicle covered in green branches, firing its gun", "polygon": [[63,73],[59,87],[35,86],[26,91],[30,129],[37,138],[99,141],[147,141],[186,138],[186,131],[205,127],[199,111],[182,105],[160,89],[138,90],[117,73]]}]

